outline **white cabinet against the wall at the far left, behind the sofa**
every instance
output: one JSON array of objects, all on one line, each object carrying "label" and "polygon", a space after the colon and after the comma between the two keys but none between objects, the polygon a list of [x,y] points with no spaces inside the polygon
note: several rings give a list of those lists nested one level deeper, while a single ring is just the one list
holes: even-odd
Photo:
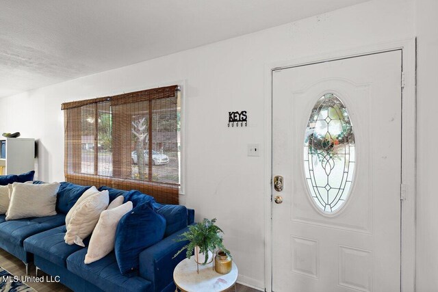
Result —
[{"label": "white cabinet against the wall at the far left, behind the sofa", "polygon": [[0,139],[0,174],[22,174],[35,168],[35,139]]}]

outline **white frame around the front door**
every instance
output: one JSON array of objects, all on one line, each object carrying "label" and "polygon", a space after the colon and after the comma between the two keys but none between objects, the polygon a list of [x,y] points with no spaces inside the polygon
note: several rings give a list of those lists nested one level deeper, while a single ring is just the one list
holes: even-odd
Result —
[{"label": "white frame around the front door", "polygon": [[[415,152],[416,152],[416,40],[409,38],[395,42],[374,44],[348,51],[302,57],[265,66],[265,291],[272,291],[272,70],[291,68],[359,57],[373,53],[402,50],[402,172],[400,185],[401,212],[401,291],[415,291]],[[411,137],[413,137],[411,139]]]}]

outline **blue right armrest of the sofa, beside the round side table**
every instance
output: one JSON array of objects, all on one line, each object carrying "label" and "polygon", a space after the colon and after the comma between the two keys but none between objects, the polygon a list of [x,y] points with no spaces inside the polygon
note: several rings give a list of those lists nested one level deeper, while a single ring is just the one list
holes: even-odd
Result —
[{"label": "blue right armrest of the sofa, beside the round side table", "polygon": [[140,253],[140,276],[153,284],[153,291],[158,292],[173,282],[173,270],[185,258],[181,252],[172,258],[188,241],[176,242],[181,233],[188,231],[188,227],[162,239]]}]

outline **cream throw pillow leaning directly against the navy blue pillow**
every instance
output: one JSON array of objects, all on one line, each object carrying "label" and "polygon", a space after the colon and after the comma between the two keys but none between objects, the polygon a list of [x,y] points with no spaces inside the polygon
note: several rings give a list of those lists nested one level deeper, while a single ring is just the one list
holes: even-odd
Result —
[{"label": "cream throw pillow leaning directly against the navy blue pillow", "polygon": [[93,234],[91,235],[88,252],[85,256],[85,261],[83,261],[84,263],[88,264],[99,261],[114,250],[117,224],[123,215],[131,210],[132,202],[129,201],[114,209],[108,207],[107,210],[101,213],[99,222],[97,222],[96,228],[94,228]]}]

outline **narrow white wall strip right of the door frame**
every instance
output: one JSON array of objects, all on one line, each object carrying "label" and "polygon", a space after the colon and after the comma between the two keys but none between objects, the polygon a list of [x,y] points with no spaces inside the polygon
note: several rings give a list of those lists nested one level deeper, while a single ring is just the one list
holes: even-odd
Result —
[{"label": "narrow white wall strip right of the door frame", "polygon": [[417,291],[438,291],[438,1],[416,1]]}]

